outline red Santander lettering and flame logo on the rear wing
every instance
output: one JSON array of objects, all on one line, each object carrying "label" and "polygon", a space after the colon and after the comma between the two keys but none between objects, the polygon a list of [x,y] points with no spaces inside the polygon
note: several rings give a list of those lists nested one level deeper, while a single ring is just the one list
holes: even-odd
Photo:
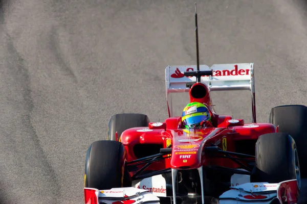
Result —
[{"label": "red Santander lettering and flame logo on the rear wing", "polygon": [[[187,68],[186,71],[194,71],[193,68]],[[234,69],[232,70],[213,70],[213,77],[224,77],[224,76],[237,76],[237,75],[249,75],[250,69],[239,69],[238,65],[234,65]],[[183,78],[183,73],[177,68],[175,73],[170,75],[171,78]],[[202,76],[208,77],[208,76]],[[190,77],[189,77],[190,78]]]}]

